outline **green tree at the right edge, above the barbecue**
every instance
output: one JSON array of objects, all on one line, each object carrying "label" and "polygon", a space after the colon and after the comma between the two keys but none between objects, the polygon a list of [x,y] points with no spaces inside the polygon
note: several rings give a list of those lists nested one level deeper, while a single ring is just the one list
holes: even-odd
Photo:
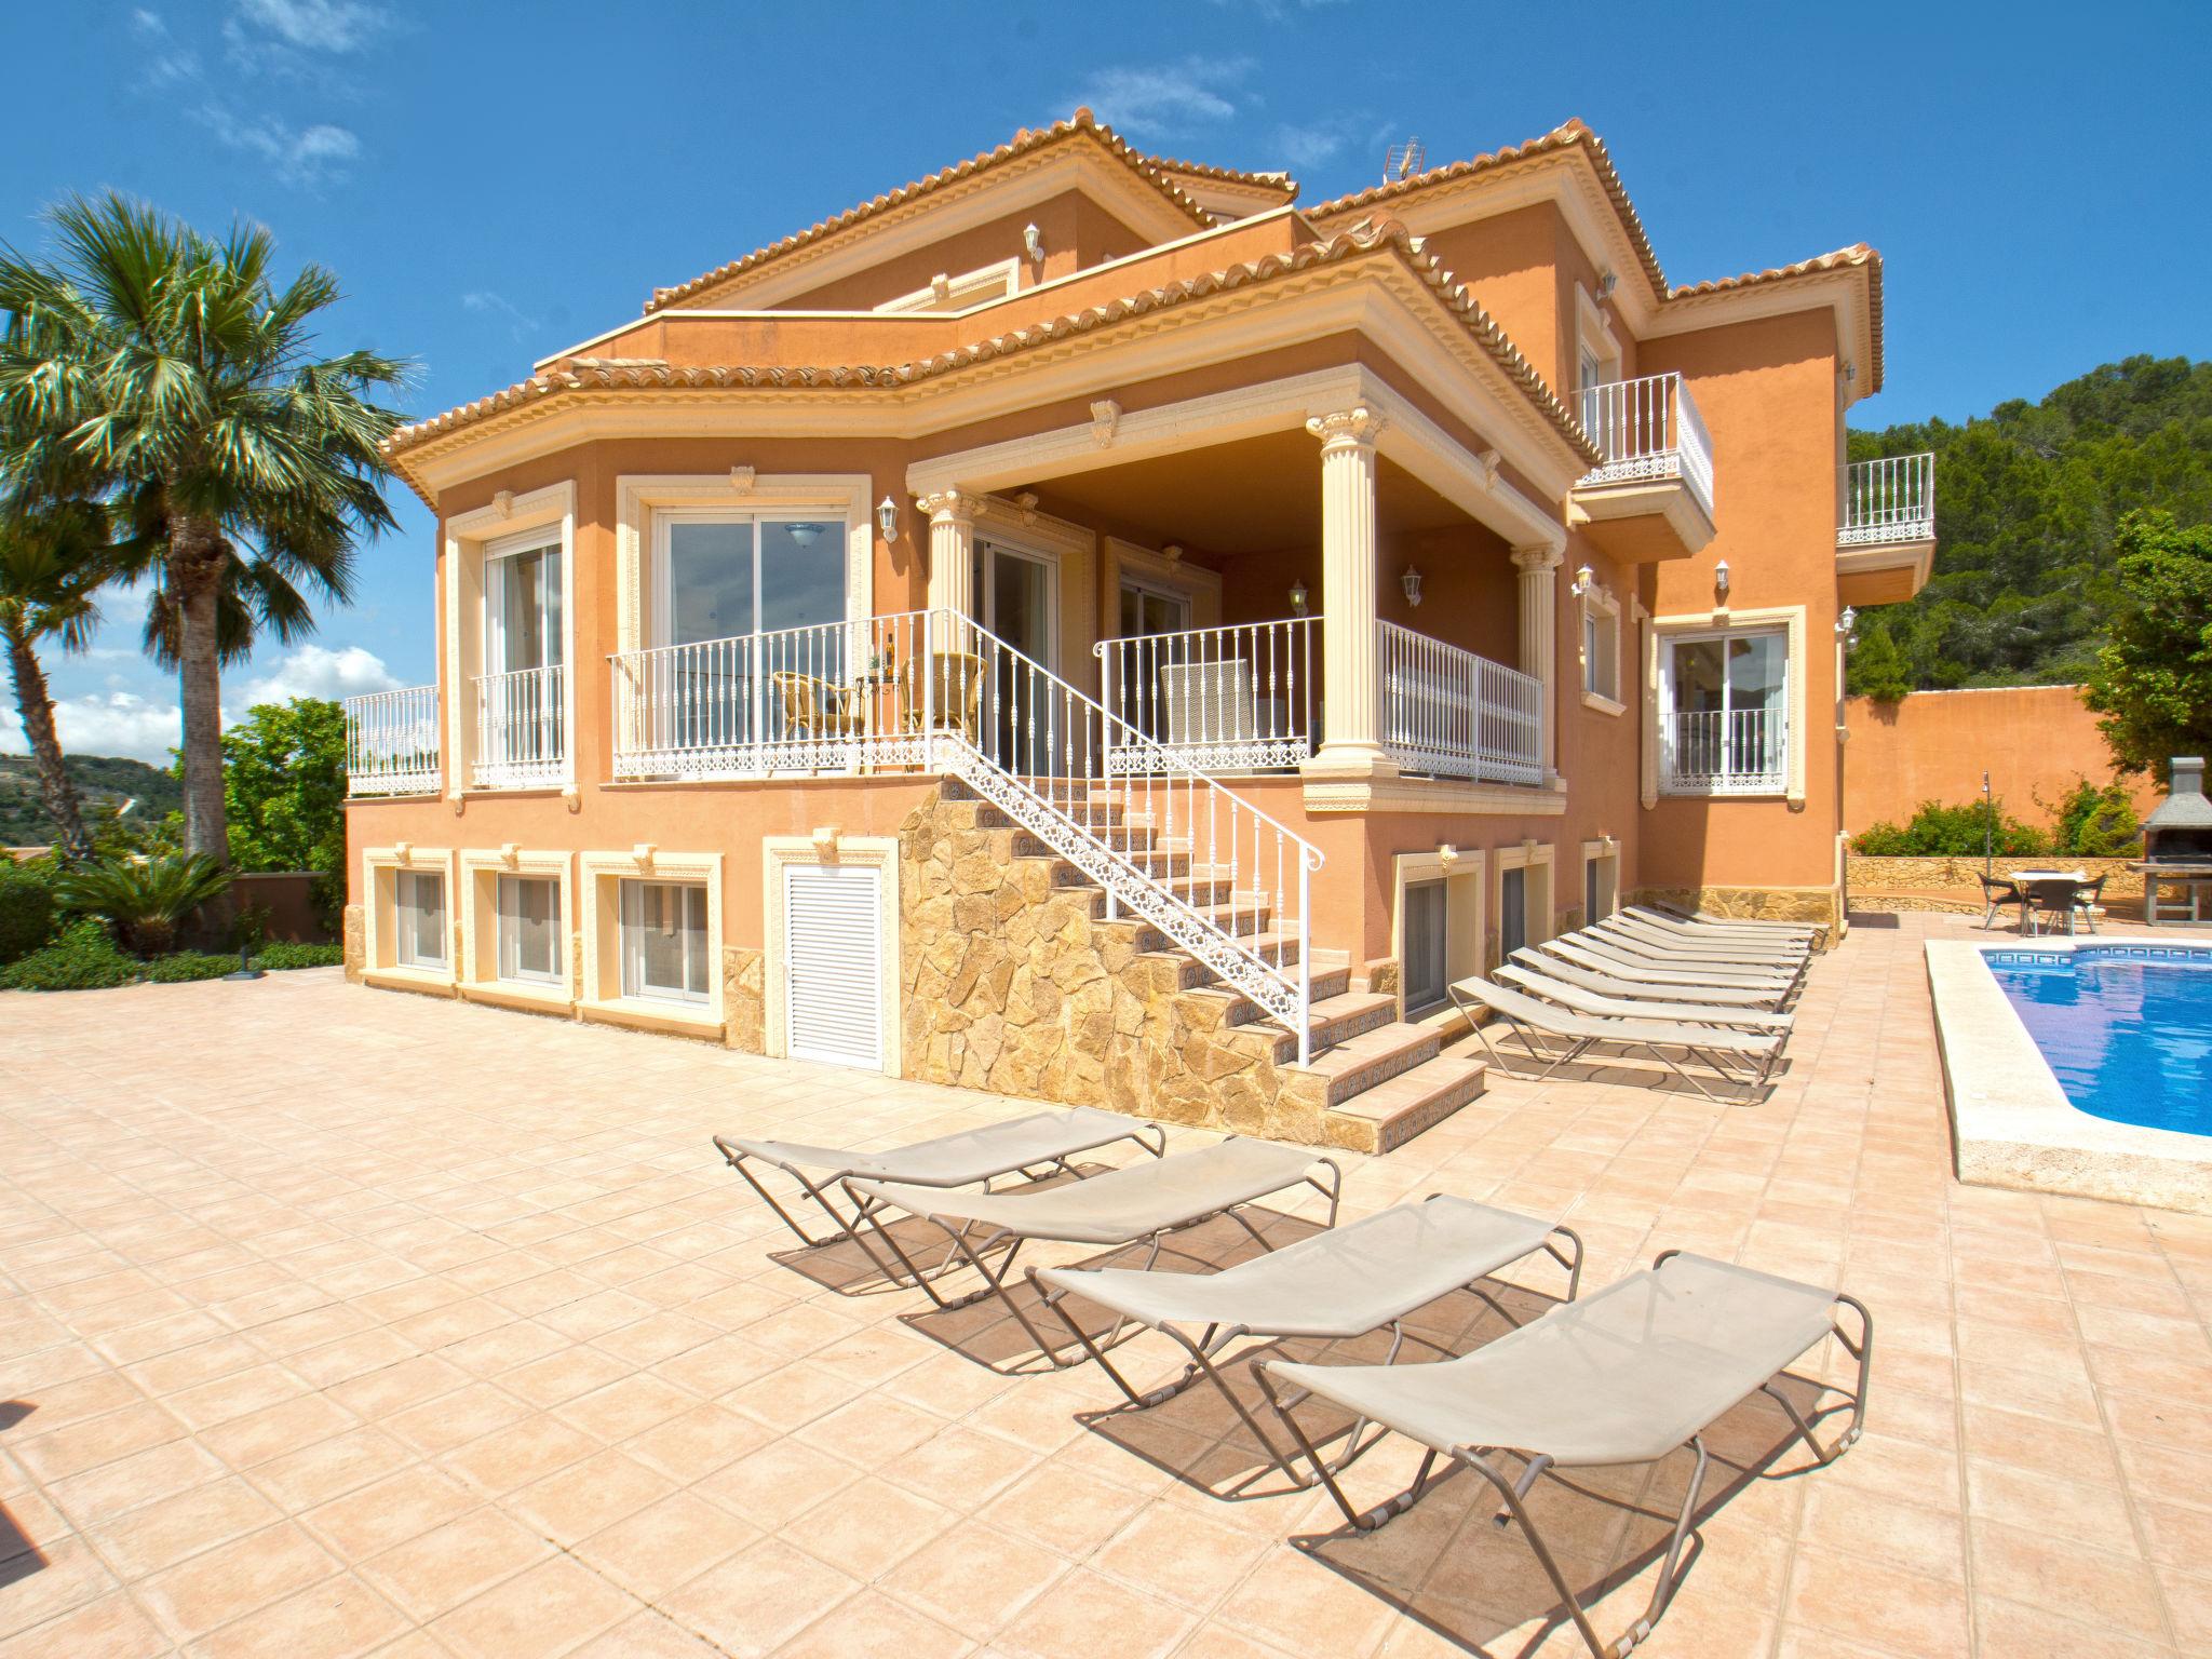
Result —
[{"label": "green tree at the right edge, above the barbecue", "polygon": [[2212,752],[2212,526],[2130,513],[2115,540],[2119,611],[2081,701],[2126,772]]}]

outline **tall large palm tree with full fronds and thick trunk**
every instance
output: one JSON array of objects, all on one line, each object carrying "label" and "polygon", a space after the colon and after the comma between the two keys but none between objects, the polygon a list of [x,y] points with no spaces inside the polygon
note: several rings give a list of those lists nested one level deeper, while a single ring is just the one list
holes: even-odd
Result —
[{"label": "tall large palm tree with full fronds and thick trunk", "polygon": [[374,403],[407,374],[374,352],[314,356],[330,272],[272,276],[274,241],[221,243],[119,195],[49,212],[49,263],[0,248],[0,467],[91,465],[139,533],[155,657],[177,666],[186,847],[228,860],[221,664],[259,628],[345,602],[352,546],[394,524]]}]

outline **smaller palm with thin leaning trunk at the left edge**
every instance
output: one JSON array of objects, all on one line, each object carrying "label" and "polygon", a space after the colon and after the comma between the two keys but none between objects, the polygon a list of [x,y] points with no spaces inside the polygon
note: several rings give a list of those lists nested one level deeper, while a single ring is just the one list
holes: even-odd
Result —
[{"label": "smaller palm with thin leaning trunk at the left edge", "polygon": [[0,646],[7,646],[15,714],[31,745],[38,792],[62,832],[62,856],[69,860],[88,858],[93,838],[84,832],[77,785],[62,765],[53,695],[38,646],[53,639],[62,650],[84,650],[100,622],[100,588],[115,571],[113,553],[108,513],[97,502],[0,502]]}]

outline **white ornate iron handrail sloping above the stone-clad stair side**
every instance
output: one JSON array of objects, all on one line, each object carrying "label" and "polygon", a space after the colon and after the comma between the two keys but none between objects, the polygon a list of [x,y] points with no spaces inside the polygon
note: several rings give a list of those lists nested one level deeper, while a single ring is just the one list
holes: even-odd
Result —
[{"label": "white ornate iron handrail sloping above the stone-clad stair side", "polygon": [[[1248,995],[1270,1020],[1290,1029],[1298,1044],[1298,1064],[1312,1057],[1312,874],[1323,867],[1323,854],[1290,825],[1263,812],[1232,790],[1210,779],[1183,757],[1139,728],[1108,710],[1088,692],[1071,686],[1044,664],[1029,657],[1018,646],[1000,639],[973,617],[956,611],[931,611],[925,622],[925,650],[929,661],[958,664],[962,653],[973,661],[980,677],[975,690],[967,690],[953,668],[931,668],[922,675],[922,728],[925,768],[953,770],[964,783],[975,787],[991,805],[1000,807],[1024,830],[1044,841],[1053,852],[1073,863],[1106,889],[1108,918],[1119,916],[1126,905],[1139,918],[1157,927],[1170,940],[1190,951],[1221,980]],[[1002,688],[1004,668],[1013,668],[1013,684]],[[1026,699],[1024,699],[1026,681]],[[1048,699],[1040,743],[1037,701],[1040,690]],[[960,708],[945,708],[940,699],[960,695]],[[1011,695],[1009,695],[1011,692]],[[1026,717],[1026,728],[1024,728]],[[1077,719],[1091,728],[1077,732]],[[1004,721],[1004,726],[1002,726]],[[1095,732],[1095,734],[1093,734]],[[1020,754],[993,754],[995,748],[1020,748]],[[1108,776],[1104,757],[1108,748],[1139,750],[1146,770],[1139,774]],[[938,763],[938,750],[953,761],[951,768]],[[1093,765],[1093,757],[1097,765]],[[1077,759],[1082,765],[1077,765]],[[1009,761],[1029,763],[1018,770]],[[1035,761],[1044,770],[1035,770]],[[1055,761],[1066,761],[1064,770],[1051,770]],[[1042,783],[1042,787],[1040,787]],[[1053,801],[1053,785],[1064,785],[1068,803]],[[1166,803],[1166,834],[1175,830],[1177,790],[1186,801],[1186,827],[1190,834],[1188,883],[1197,883],[1199,830],[1203,801],[1208,838],[1208,880],[1219,863],[1212,854],[1221,845],[1221,823],[1230,827],[1230,927],[1221,927],[1197,905],[1175,891],[1172,876],[1161,880],[1150,869],[1139,867],[1124,847],[1115,847],[1115,825],[1097,834],[1093,825],[1079,821],[1068,807],[1075,794],[1093,799],[1104,792],[1108,799],[1139,792],[1146,803],[1146,818],[1155,799],[1155,787]],[[1121,801],[1124,821],[1130,801]],[[1088,814],[1086,814],[1088,816]],[[1276,841],[1276,900],[1274,922],[1281,929],[1281,900],[1287,898],[1285,876],[1296,878],[1298,902],[1290,927],[1296,933],[1296,971],[1285,971],[1281,962],[1267,962],[1256,949],[1245,945],[1237,931],[1237,872],[1239,841],[1252,832],[1254,883],[1261,878],[1259,849],[1265,832]],[[1155,825],[1157,827],[1157,825]],[[1285,865],[1290,865],[1285,869]],[[1265,898],[1265,889],[1254,887]],[[1259,927],[1261,902],[1252,905],[1254,931]]]}]

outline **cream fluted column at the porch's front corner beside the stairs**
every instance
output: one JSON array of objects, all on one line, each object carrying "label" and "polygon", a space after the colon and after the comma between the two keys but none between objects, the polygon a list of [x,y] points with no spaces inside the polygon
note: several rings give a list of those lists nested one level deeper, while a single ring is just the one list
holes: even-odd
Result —
[{"label": "cream fluted column at the porch's front corner beside the stairs", "polygon": [[1321,666],[1327,721],[1307,772],[1378,776],[1383,752],[1376,650],[1376,436],[1371,409],[1314,416],[1321,438]]}]

